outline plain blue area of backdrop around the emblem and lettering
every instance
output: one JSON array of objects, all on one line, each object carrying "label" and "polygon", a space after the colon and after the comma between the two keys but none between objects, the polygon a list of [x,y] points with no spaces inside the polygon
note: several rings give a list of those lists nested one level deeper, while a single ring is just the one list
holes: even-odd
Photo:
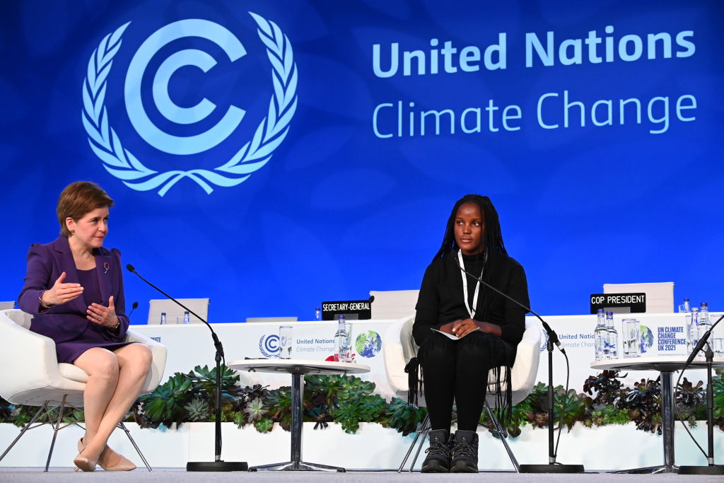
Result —
[{"label": "plain blue area of backdrop around the emblem and lettering", "polygon": [[[251,139],[272,93],[249,11],[279,25],[299,71],[298,109],[271,161],[211,195],[185,179],[160,197],[109,175],[80,122],[88,59],[104,35],[132,22],[106,98],[124,146],[159,171],[210,168]],[[669,281],[677,303],[688,296],[722,310],[723,13],[720,1],[4,1],[0,300],[17,297],[28,245],[56,238],[62,188],[93,180],[116,201],[106,245],[174,296],[211,298],[211,322],[311,319],[321,301],[418,288],[452,203],[466,193],[487,194],[497,206],[505,244],[526,268],[531,304],[541,314],[585,314],[588,295],[603,283]],[[148,146],[122,101],[135,49],[185,18],[221,23],[248,50],[206,75],[190,68],[174,77],[172,97],[195,104],[207,96],[219,106],[209,125],[229,104],[247,110],[230,140],[188,159]],[[585,38],[589,30],[603,35],[606,25],[617,39],[694,30],[696,53],[524,67],[525,33]],[[429,49],[429,39],[439,38],[484,49],[500,32],[508,34],[506,70],[390,79],[372,71],[374,43],[383,51],[392,41]],[[211,43],[191,39],[188,46],[221,58]],[[645,103],[691,94],[696,120],[671,120],[659,135],[645,121],[537,126],[537,98],[564,90],[589,106],[602,98]],[[521,130],[389,139],[372,132],[377,104],[414,101],[419,110],[461,112],[484,108],[490,98],[521,106]],[[195,128],[209,127],[200,124]],[[140,302],[133,322],[145,323],[147,301],[159,295],[128,272],[125,280],[127,304]]]}]

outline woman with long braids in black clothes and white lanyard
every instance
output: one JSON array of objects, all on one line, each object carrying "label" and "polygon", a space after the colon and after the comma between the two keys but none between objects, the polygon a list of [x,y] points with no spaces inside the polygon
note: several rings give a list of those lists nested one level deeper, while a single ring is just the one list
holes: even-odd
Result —
[{"label": "woman with long braids in black clothes and white lanyard", "polygon": [[[497,211],[487,196],[467,195],[453,206],[425,271],[413,325],[432,427],[424,473],[478,471],[476,429],[488,372],[504,366],[507,380],[523,337],[526,311],[476,277],[529,305],[526,274],[505,251]],[[502,395],[498,383],[495,390],[510,409],[510,388]],[[453,403],[458,429],[450,434]]]}]

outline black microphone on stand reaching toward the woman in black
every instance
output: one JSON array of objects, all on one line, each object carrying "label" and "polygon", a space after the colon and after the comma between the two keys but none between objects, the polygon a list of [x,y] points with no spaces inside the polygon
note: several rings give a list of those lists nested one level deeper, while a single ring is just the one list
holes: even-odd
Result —
[{"label": "black microphone on stand reaching toward the woman in black", "polygon": [[[555,437],[553,436],[553,421],[555,421],[554,414],[553,414],[553,344],[555,344],[560,350],[561,353],[563,353],[563,356],[565,357],[565,360],[568,361],[568,356],[565,354],[565,348],[563,348],[563,345],[558,340],[558,335],[555,333],[555,330],[553,330],[550,325],[548,325],[541,316],[536,314],[534,311],[531,310],[530,307],[526,307],[523,305],[523,303],[518,302],[515,300],[515,298],[510,297],[510,295],[506,293],[502,293],[497,288],[490,285],[488,282],[485,282],[482,277],[476,277],[475,275],[468,272],[464,266],[460,265],[460,261],[458,260],[458,257],[451,256],[453,260],[455,260],[455,264],[458,265],[458,268],[463,271],[464,274],[470,275],[473,277],[473,279],[477,280],[481,284],[488,287],[490,290],[494,291],[497,294],[502,295],[503,297],[507,298],[509,301],[515,303],[515,305],[520,306],[524,308],[526,311],[530,312],[534,316],[538,318],[538,320],[543,325],[543,329],[548,334],[548,464],[524,464],[520,465],[519,472],[521,473],[583,473],[584,466],[578,465],[578,464],[560,464],[555,462],[556,458],[556,451],[557,449],[553,448],[553,440]],[[568,385],[568,383],[566,383]],[[566,387],[568,389],[568,387]],[[564,405],[565,406],[565,405]],[[558,437],[560,440],[560,431],[562,431],[562,425],[559,425],[558,427]]]}]

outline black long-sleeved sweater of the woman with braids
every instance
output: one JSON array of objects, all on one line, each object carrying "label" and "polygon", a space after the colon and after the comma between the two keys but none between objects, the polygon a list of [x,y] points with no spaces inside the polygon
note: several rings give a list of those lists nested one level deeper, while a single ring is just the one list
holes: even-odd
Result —
[{"label": "black long-sleeved sweater of the woman with braids", "polygon": [[[417,314],[413,325],[413,337],[418,345],[422,345],[432,334],[430,329],[439,329],[448,322],[470,318],[463,299],[463,280],[456,257],[456,253],[447,253],[442,259],[435,259],[425,271],[415,307]],[[480,261],[476,264],[478,259],[478,256],[463,255],[463,262],[468,272],[480,274],[482,267]],[[523,305],[530,306],[526,272],[523,271],[521,264],[510,257],[496,254],[489,260],[485,269],[492,274],[490,285]],[[468,276],[468,303],[472,301],[475,284],[476,280]],[[492,297],[492,303],[487,314],[484,314],[483,302],[486,296]],[[513,348],[523,337],[526,328],[525,315],[525,309],[501,295],[486,290],[481,285],[475,320],[499,325],[502,330],[502,340]]]}]

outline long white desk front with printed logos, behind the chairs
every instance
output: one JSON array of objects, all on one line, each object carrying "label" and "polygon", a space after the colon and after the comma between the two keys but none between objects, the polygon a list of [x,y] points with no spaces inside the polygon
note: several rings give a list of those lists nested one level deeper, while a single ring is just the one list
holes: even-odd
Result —
[{"label": "long white desk front with printed logos, behind the chairs", "polygon": [[[615,314],[614,321],[619,333],[621,321],[627,317],[639,319],[641,325],[651,332],[651,345],[642,356],[683,356],[686,354],[686,342],[679,328],[685,324],[684,314]],[[537,321],[535,317],[529,319]],[[560,342],[568,354],[571,366],[571,387],[577,391],[583,390],[584,381],[594,374],[590,365],[594,361],[593,331],[596,326],[595,315],[574,316],[545,316],[545,321],[557,332]],[[362,374],[363,379],[374,381],[377,392],[385,398],[392,397],[393,393],[387,384],[384,370],[384,344],[385,332],[395,320],[380,319],[369,321],[352,321],[354,324],[356,361],[370,366],[369,374]],[[279,325],[292,325],[294,327],[294,353],[293,356],[305,359],[324,360],[334,353],[334,332],[336,322],[255,322],[235,324],[213,324],[214,330],[224,345],[227,361],[248,358],[278,356]],[[188,372],[197,365],[214,366],[214,344],[211,341],[211,332],[203,324],[188,325],[134,325],[137,332],[153,337],[168,348],[166,366],[167,377],[174,372]],[[545,351],[547,336],[541,330],[541,352]],[[672,335],[673,334],[673,335]],[[366,350],[358,350],[362,348]],[[362,352],[362,353],[360,353]],[[553,357],[553,382],[555,385],[565,385],[565,358],[555,349]],[[540,359],[536,381],[547,382],[548,361],[543,356]],[[243,385],[262,384],[269,387],[289,385],[287,377],[282,375],[254,374],[245,372],[241,375]],[[647,371],[628,371],[623,379],[624,384],[633,384],[642,377],[649,377]],[[705,380],[702,370],[687,371],[687,377],[694,382]]]}]

